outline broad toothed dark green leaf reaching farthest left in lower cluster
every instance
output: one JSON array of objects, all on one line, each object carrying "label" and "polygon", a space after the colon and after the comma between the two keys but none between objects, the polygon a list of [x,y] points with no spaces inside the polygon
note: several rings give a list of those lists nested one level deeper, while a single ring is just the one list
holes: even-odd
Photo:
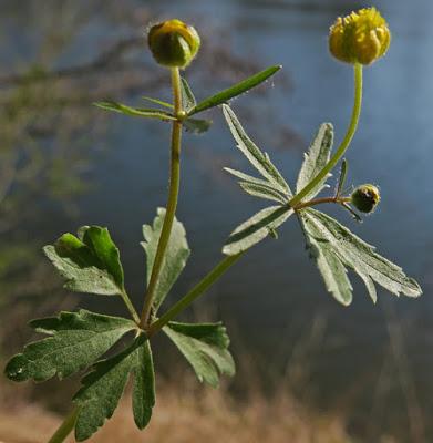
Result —
[{"label": "broad toothed dark green leaf reaching farthest left in lower cluster", "polygon": [[80,310],[33,320],[31,327],[52,337],[32,342],[6,367],[13,381],[45,381],[69,377],[91,365],[126,332],[136,329],[127,319]]}]

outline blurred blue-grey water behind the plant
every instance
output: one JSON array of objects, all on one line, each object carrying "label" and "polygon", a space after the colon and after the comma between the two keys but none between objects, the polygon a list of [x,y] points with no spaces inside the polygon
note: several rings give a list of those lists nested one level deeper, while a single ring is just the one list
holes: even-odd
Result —
[{"label": "blurred blue-grey water behind the plant", "polygon": [[[336,14],[348,11],[346,1],[154,0],[137,4],[150,8],[157,18],[189,19],[198,30],[230,28],[235,31],[229,40],[233,51],[261,66],[285,66],[292,81],[290,93],[281,92],[282,81],[276,76],[268,83],[270,92],[265,102],[258,102],[251,92],[238,99],[234,107],[245,111],[254,106],[258,115],[262,113],[264,124],[251,125],[250,135],[268,151],[290,183],[295,183],[302,152],[277,145],[272,128],[286,125],[307,144],[318,125],[330,121],[337,141],[341,140],[351,110],[352,72],[329,56],[327,30]],[[351,2],[350,9],[359,4]],[[346,214],[338,216],[414,276],[424,288],[423,298],[396,300],[380,291],[381,302],[373,306],[364,288],[355,284],[352,306],[340,307],[326,292],[308,259],[293,219],[281,229],[278,241],[268,240],[250,250],[199,305],[205,309],[213,300],[217,312],[212,318],[233,324],[238,343],[245,342],[279,370],[293,362],[293,342],[308,336],[311,326],[323,319],[322,334],[306,351],[306,361],[313,360],[313,364],[310,368],[305,363],[305,382],[323,405],[344,404],[353,395],[361,399],[360,411],[365,412],[374,401],[390,349],[390,319],[382,306],[385,300],[398,310],[410,378],[415,381],[416,395],[427,416],[433,406],[433,3],[382,0],[375,4],[389,20],[393,42],[385,60],[365,70],[363,113],[348,159],[350,181],[379,184],[382,203],[362,225]],[[92,32],[97,34],[103,32],[101,29]],[[92,32],[83,34],[90,45]],[[85,51],[83,54],[81,48],[66,60],[83,58]],[[194,76],[194,64],[187,74]],[[198,95],[210,92],[200,91]],[[151,95],[148,91],[143,93]],[[258,104],[261,107],[257,109]],[[247,164],[235,148],[221,115],[214,113],[213,117],[215,125],[209,133],[185,137],[178,218],[186,225],[193,256],[172,301],[219,260],[228,233],[262,206],[243,194],[221,171],[223,165]],[[92,173],[99,189],[81,198],[79,219],[70,220],[70,226],[54,223],[50,229],[55,237],[81,224],[109,226],[121,247],[128,287],[138,303],[144,290],[141,225],[152,220],[157,206],[165,205],[168,127],[163,126],[167,130],[164,132],[154,122],[114,115],[111,122],[110,143],[114,148]],[[107,309],[116,309],[111,300],[106,303]],[[395,371],[399,383],[399,369]],[[395,411],[405,413],[406,402],[399,393],[395,395]]]}]

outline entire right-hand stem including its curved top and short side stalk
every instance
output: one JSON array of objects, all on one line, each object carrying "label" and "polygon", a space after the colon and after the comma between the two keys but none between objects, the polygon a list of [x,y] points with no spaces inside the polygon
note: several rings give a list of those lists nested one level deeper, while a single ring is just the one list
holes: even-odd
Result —
[{"label": "entire right-hand stem including its curved top and short side stalk", "polygon": [[[337,165],[337,163],[344,155],[348,150],[350,142],[353,138],[354,133],[357,132],[359,117],[361,114],[361,105],[362,105],[362,65],[357,63],[353,66],[354,70],[354,101],[353,101],[353,110],[352,116],[350,120],[350,124],[348,131],[346,132],[344,138],[341,142],[340,146],[337,148],[336,154],[330,158],[327,165],[320,171],[320,173],[297,195],[295,195],[289,205],[296,209],[300,209],[302,207],[313,206],[321,203],[340,203],[344,204],[348,202],[347,197],[336,198],[336,197],[326,197],[326,198],[317,198],[316,200],[310,200],[307,203],[301,203],[302,198],[306,197]],[[186,296],[184,296],[176,305],[174,305],[167,312],[164,313],[158,320],[153,322],[148,328],[148,334],[153,334],[163,328],[168,321],[175,318],[181,311],[187,308],[195,299],[197,299],[206,289],[208,289],[224,272],[227,271],[243,255],[240,253],[235,256],[225,257],[197,286],[195,286]]]}]

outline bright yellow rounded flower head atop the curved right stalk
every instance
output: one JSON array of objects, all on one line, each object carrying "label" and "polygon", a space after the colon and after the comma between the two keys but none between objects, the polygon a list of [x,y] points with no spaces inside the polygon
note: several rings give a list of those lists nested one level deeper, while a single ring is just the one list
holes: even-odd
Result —
[{"label": "bright yellow rounded flower head atop the curved right stalk", "polygon": [[371,64],[386,52],[391,32],[375,8],[339,17],[329,32],[329,50],[347,63]]}]

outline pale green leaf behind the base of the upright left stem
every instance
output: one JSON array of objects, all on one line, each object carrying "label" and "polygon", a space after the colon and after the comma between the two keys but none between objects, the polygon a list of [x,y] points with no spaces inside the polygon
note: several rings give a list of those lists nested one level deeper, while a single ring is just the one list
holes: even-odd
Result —
[{"label": "pale green leaf behind the base of the upright left stem", "polygon": [[[143,236],[145,241],[142,246],[147,258],[147,285],[151,280],[153,264],[155,260],[156,249],[159,241],[161,230],[163,228],[165,209],[158,208],[157,215],[153,222],[153,226],[143,226]],[[186,241],[186,231],[184,225],[176,218],[173,222],[172,234],[169,236],[167,253],[165,255],[163,267],[161,269],[159,279],[155,288],[155,297],[153,302],[154,313],[158,310],[165,297],[172,289],[174,282],[185,268],[190,250]]]}]

